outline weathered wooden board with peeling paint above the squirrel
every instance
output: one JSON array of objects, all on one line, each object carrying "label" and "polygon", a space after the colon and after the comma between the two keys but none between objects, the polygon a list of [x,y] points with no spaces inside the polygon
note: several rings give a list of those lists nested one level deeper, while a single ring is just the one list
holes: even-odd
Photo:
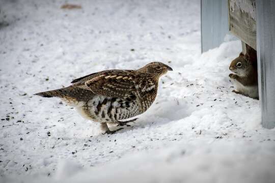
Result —
[{"label": "weathered wooden board with peeling paint above the squirrel", "polygon": [[229,31],[256,50],[255,0],[229,0],[228,2]]}]

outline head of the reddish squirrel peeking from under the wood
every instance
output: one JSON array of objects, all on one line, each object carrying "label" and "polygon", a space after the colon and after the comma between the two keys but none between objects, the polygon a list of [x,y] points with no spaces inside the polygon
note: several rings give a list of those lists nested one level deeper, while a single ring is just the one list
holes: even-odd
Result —
[{"label": "head of the reddish squirrel peeking from under the wood", "polygon": [[238,76],[247,76],[254,69],[253,63],[251,62],[248,54],[242,52],[239,56],[232,60],[229,70]]}]

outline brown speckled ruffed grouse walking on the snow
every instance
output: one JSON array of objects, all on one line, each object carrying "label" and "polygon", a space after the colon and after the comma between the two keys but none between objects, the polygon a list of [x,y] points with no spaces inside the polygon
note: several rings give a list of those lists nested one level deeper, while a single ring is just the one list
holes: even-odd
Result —
[{"label": "brown speckled ruffed grouse walking on the snow", "polygon": [[120,121],[144,113],[157,95],[158,79],[172,68],[152,62],[137,70],[106,70],[74,79],[72,85],[56,90],[38,93],[42,97],[59,97],[68,105],[76,107],[79,113],[101,124],[104,133],[107,124],[126,125]]}]

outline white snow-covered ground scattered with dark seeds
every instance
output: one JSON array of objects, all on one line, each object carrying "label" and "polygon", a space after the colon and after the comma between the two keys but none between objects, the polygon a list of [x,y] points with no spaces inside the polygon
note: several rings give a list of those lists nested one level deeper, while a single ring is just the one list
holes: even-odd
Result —
[{"label": "white snow-covered ground scattered with dark seeds", "polygon": [[[259,101],[231,92],[240,42],[201,54],[199,1],[0,0],[0,10],[0,182],[275,181],[275,130],[261,127]],[[114,135],[33,96],[154,60],[174,71]]]}]

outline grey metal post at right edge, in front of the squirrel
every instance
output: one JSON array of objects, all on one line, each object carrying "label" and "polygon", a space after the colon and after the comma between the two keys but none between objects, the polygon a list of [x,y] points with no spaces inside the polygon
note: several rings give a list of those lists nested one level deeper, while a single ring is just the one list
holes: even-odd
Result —
[{"label": "grey metal post at right edge, in front of the squirrel", "polygon": [[259,94],[264,128],[275,127],[275,1],[256,0]]}]

